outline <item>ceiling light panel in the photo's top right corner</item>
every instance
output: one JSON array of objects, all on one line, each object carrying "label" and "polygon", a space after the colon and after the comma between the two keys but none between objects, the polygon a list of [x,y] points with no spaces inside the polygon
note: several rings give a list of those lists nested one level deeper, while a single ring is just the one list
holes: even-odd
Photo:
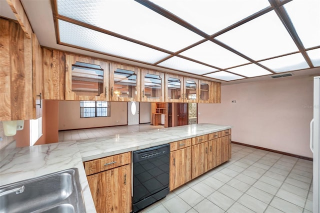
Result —
[{"label": "ceiling light panel in the photo's top right corner", "polygon": [[303,46],[320,45],[320,0],[292,0],[284,8]]}]

